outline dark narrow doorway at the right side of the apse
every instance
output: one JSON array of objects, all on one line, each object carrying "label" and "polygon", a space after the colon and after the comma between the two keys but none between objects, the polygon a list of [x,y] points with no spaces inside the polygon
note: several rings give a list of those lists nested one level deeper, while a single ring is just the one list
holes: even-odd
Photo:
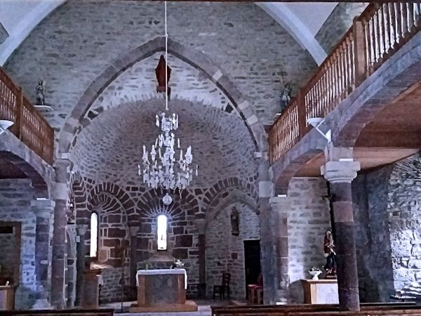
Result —
[{"label": "dark narrow doorway at the right side of the apse", "polygon": [[246,298],[248,284],[256,284],[260,275],[260,240],[244,240],[244,267],[246,268]]}]

